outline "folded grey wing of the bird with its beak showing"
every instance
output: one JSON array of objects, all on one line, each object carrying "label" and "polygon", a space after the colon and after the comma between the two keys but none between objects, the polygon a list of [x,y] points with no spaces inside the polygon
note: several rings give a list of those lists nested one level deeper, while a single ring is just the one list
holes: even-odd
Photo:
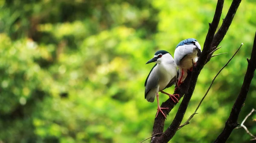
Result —
[{"label": "folded grey wing of the bird with its beak showing", "polygon": [[148,80],[145,83],[145,98],[151,89],[154,89],[157,87],[158,80],[159,80],[159,76],[157,74],[157,70],[156,68],[153,68],[148,75]]}]

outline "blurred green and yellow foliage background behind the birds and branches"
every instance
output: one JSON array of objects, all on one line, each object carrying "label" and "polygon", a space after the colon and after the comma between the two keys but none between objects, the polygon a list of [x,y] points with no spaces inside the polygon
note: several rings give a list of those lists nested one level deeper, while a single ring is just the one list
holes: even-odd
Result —
[{"label": "blurred green and yellow foliage background behind the birds and branches", "polygon": [[[231,2],[225,0],[221,19]],[[160,49],[173,55],[186,38],[196,38],[203,47],[216,3],[1,0],[0,143],[139,143],[150,137],[157,102],[144,99],[144,82],[153,66],[145,62]],[[244,46],[216,79],[199,114],[170,143],[210,143],[222,131],[247,69],[255,15],[256,1],[242,0],[216,52],[227,54],[212,58],[202,70],[184,121],[218,70],[242,42]],[[256,108],[255,87],[254,78],[239,123]],[[166,99],[160,94],[160,103]],[[253,118],[245,125],[256,135]],[[244,129],[235,129],[227,142],[250,139]]]}]

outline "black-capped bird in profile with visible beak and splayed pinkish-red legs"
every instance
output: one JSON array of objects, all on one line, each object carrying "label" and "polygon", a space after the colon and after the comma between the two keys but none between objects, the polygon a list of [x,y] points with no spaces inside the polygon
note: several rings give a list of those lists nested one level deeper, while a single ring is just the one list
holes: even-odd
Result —
[{"label": "black-capped bird in profile with visible beak and splayed pinkish-red legs", "polygon": [[[174,102],[179,102],[175,97],[179,97],[178,94],[172,95],[163,91],[177,82],[177,65],[172,55],[166,50],[158,50],[154,54],[154,57],[146,64],[151,62],[155,62],[156,64],[151,69],[145,81],[145,99],[147,99],[148,102],[154,102],[155,96],[157,96],[157,115],[158,112],[161,112],[164,115],[161,109],[168,108],[160,108],[158,92],[160,91],[161,93],[169,95]],[[164,117],[166,118],[166,115],[164,115]]]}]

